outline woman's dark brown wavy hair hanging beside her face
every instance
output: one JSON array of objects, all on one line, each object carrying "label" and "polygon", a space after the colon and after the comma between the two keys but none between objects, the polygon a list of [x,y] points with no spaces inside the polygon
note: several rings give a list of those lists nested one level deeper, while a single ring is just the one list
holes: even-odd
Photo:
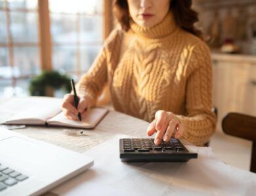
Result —
[{"label": "woman's dark brown wavy hair hanging beside her face", "polygon": [[[194,23],[198,22],[198,12],[193,10],[191,6],[192,0],[171,0],[170,10],[173,12],[175,21],[179,27],[203,39],[202,31],[194,27]],[[122,29],[128,31],[130,24],[127,0],[115,0],[114,13]]]}]

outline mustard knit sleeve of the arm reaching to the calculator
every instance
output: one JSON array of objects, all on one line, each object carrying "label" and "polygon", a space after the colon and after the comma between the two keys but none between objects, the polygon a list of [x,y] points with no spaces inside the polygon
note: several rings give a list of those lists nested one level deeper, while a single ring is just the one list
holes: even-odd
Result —
[{"label": "mustard knit sleeve of the arm reaching to the calculator", "polygon": [[191,72],[186,82],[186,116],[177,116],[184,125],[182,137],[202,146],[215,131],[216,116],[212,112],[212,64],[209,48],[195,46],[190,59]]}]

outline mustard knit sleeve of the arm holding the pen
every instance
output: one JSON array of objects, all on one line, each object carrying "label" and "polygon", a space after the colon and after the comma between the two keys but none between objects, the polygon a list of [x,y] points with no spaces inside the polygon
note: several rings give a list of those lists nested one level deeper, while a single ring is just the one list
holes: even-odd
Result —
[{"label": "mustard knit sleeve of the arm holding the pen", "polygon": [[96,105],[96,101],[108,80],[108,56],[110,55],[110,45],[113,45],[117,37],[117,30],[110,33],[104,41],[104,45],[96,57],[89,71],[84,74],[76,84],[77,94],[85,96],[91,102],[91,106]]}]

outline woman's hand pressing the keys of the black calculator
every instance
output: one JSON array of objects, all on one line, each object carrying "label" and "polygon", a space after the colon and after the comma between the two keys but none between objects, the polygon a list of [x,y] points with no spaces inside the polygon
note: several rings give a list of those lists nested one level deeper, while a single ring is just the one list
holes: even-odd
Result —
[{"label": "woman's hand pressing the keys of the black calculator", "polygon": [[183,134],[183,130],[184,126],[175,114],[158,110],[155,114],[155,119],[148,126],[147,134],[151,136],[157,132],[155,144],[159,145],[162,139],[167,142],[171,139],[172,135],[179,139]]}]

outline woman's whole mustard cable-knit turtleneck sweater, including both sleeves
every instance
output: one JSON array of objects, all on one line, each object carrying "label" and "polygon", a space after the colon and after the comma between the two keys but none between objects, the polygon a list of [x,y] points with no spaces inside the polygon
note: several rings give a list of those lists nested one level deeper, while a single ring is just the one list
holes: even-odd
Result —
[{"label": "woman's whole mustard cable-knit turtleneck sweater, including both sleeves", "polygon": [[106,82],[119,112],[148,122],[157,110],[173,112],[184,125],[182,137],[196,145],[215,130],[209,48],[178,27],[171,13],[154,27],[131,21],[129,31],[112,31],[78,82],[78,94],[95,105]]}]

